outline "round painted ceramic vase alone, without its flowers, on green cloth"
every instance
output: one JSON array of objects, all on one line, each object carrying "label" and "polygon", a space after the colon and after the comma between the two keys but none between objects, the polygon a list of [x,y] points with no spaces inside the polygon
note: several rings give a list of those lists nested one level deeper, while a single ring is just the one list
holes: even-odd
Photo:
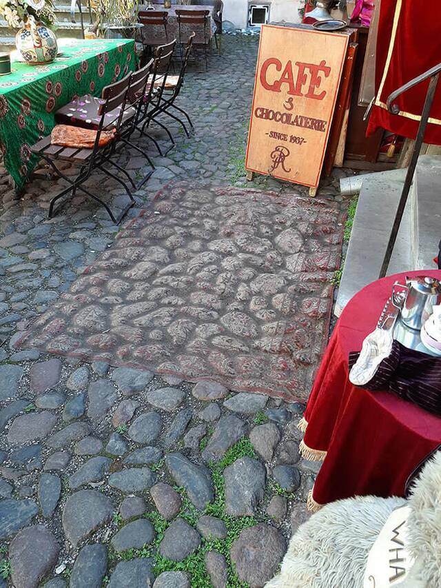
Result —
[{"label": "round painted ceramic vase alone, without its flowers, on green cloth", "polygon": [[17,32],[15,44],[24,61],[30,65],[50,63],[57,57],[57,38],[43,23],[28,19]]}]

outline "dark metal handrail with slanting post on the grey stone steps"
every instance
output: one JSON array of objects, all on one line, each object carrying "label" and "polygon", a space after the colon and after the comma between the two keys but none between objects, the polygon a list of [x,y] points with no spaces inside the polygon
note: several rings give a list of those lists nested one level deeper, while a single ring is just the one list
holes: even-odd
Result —
[{"label": "dark metal handrail with slanting post on the grey stone steps", "polygon": [[389,237],[389,243],[387,243],[386,253],[384,254],[384,259],[380,270],[380,278],[384,278],[384,276],[387,274],[387,268],[389,267],[389,262],[391,261],[393,247],[395,246],[402,215],[404,214],[404,208],[406,207],[407,203],[407,197],[409,196],[411,189],[413,174],[415,174],[416,164],[418,163],[418,157],[420,156],[422,142],[424,140],[424,133],[426,132],[427,123],[429,121],[430,110],[432,108],[433,98],[435,97],[435,91],[438,85],[440,74],[441,63],[438,63],[438,65],[435,65],[430,70],[427,70],[427,72],[424,72],[420,76],[411,79],[411,81],[408,81],[407,83],[400,86],[400,88],[389,94],[389,97],[386,101],[387,108],[391,114],[400,114],[400,107],[398,104],[394,103],[398,96],[404,92],[407,92],[407,90],[414,88],[414,86],[418,85],[422,81],[430,79],[429,88],[427,88],[426,98],[422,108],[420,125],[418,126],[418,132],[416,134],[415,143],[413,145],[411,161],[409,163],[409,168],[407,168],[407,174],[406,178],[404,179],[400,202],[398,203],[395,220],[393,221],[392,225],[391,236]]}]

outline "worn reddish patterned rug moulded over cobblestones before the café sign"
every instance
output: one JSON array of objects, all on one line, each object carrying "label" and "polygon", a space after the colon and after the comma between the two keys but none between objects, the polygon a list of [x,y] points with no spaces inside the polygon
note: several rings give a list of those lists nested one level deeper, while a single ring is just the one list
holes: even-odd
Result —
[{"label": "worn reddish patterned rug moulded over cobblestones before the caf\u00e9 sign", "polygon": [[305,401],[341,237],[333,203],[169,185],[17,346]]}]

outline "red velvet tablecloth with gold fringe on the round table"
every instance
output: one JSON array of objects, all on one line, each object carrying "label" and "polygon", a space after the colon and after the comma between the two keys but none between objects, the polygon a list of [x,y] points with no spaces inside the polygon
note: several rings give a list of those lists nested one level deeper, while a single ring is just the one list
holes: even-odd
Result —
[{"label": "red velvet tablecloth with gold fringe on the round table", "polygon": [[[441,278],[440,271],[408,276]],[[348,355],[359,351],[391,295],[388,276],[363,288],[345,307],[320,364],[304,420],[301,449],[323,459],[309,508],[355,495],[402,496],[407,477],[441,443],[441,418],[391,392],[369,392],[349,382]],[[441,359],[440,359],[441,361]]]}]

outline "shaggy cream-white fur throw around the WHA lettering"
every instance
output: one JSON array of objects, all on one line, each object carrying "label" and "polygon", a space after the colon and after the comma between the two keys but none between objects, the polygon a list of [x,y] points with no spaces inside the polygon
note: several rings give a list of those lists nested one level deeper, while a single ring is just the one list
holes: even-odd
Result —
[{"label": "shaggy cream-white fur throw around the WHA lettering", "polygon": [[[365,496],[323,507],[291,538],[280,574],[265,588],[362,588],[367,555],[404,498]],[[441,452],[409,498],[409,547],[416,558],[400,588],[441,588]]]}]

